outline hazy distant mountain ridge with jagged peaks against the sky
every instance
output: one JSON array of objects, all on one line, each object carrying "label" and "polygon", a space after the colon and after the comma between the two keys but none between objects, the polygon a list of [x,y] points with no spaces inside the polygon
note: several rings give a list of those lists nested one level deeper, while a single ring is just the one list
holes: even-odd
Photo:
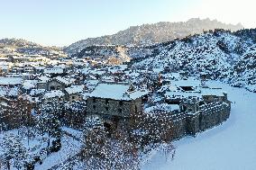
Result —
[{"label": "hazy distant mountain ridge with jagged peaks against the sky", "polygon": [[145,45],[156,42],[164,42],[184,38],[187,35],[202,33],[203,31],[215,30],[216,28],[237,31],[242,29],[242,24],[225,24],[216,20],[193,18],[187,22],[158,22],[132,26],[114,35],[105,35],[97,38],[79,40],[65,49],[70,54],[77,53],[81,49],[94,45]]}]

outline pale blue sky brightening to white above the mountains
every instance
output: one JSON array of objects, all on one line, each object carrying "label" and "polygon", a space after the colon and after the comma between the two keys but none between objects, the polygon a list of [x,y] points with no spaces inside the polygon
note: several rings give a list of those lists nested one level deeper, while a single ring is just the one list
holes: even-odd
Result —
[{"label": "pale blue sky brightening to white above the mountains", "polygon": [[0,39],[69,45],[153,22],[192,17],[256,27],[253,0],[0,0]]}]

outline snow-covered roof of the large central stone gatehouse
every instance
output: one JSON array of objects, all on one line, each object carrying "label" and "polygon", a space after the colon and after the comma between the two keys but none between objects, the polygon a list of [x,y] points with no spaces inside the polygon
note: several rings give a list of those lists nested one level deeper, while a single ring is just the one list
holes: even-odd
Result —
[{"label": "snow-covered roof of the large central stone gatehouse", "polygon": [[90,97],[130,101],[148,94],[147,91],[128,92],[130,85],[122,84],[98,84]]}]

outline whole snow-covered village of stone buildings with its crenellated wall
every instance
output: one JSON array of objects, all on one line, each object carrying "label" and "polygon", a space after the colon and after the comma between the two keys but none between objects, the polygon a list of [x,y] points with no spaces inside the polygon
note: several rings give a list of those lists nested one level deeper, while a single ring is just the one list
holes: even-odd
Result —
[{"label": "whole snow-covered village of stone buildings with its crenellated wall", "polygon": [[69,125],[79,126],[87,116],[96,115],[112,130],[133,123],[137,113],[169,112],[176,139],[195,135],[229,117],[227,94],[207,86],[206,76],[198,81],[198,77],[188,78],[184,72],[172,73],[165,67],[93,65],[88,60],[39,57],[2,61],[2,118],[8,103],[20,96],[25,96],[35,110],[45,103],[62,103],[64,114],[60,117],[66,117]]}]

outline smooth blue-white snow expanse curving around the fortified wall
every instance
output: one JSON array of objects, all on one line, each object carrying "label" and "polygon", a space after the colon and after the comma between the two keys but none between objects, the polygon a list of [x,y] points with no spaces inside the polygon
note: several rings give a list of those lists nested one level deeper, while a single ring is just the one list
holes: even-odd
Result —
[{"label": "smooth blue-white snow expanse curving around the fortified wall", "polygon": [[174,142],[176,155],[156,152],[142,170],[254,170],[256,169],[256,94],[216,82],[233,102],[230,119],[196,138]]}]

